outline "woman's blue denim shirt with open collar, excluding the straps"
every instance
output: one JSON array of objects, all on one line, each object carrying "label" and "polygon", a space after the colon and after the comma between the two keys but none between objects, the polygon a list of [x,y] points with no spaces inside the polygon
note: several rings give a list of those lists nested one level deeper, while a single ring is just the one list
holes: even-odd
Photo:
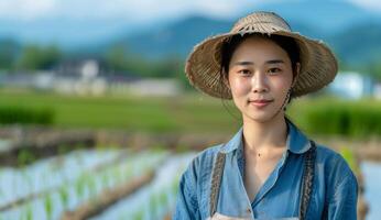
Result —
[{"label": "woman's blue denim shirt with open collar, excluding the straps", "polygon": [[[226,162],[218,196],[217,212],[246,219],[298,218],[304,154],[311,147],[307,136],[286,120],[286,151],[252,201],[244,188],[244,155],[241,128],[226,144],[200,152],[183,173],[173,219],[207,219],[211,170],[218,152]],[[306,219],[357,219],[358,183],[342,156],[316,144],[313,190]]]}]

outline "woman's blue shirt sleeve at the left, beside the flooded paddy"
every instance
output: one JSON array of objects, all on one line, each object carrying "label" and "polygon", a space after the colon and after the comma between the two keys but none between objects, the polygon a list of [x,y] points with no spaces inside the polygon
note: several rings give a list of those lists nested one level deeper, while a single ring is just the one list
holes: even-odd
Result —
[{"label": "woman's blue shirt sleeve at the left, beside the flooded paddy", "polygon": [[195,161],[193,161],[179,179],[173,220],[200,219],[196,194],[196,174]]}]

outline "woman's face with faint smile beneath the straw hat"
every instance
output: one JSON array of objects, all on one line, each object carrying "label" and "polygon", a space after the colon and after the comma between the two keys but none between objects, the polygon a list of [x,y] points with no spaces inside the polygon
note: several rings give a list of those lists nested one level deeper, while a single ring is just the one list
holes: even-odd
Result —
[{"label": "woman's face with faint smile beneath the straw hat", "polygon": [[[298,70],[298,64],[296,67]],[[287,53],[277,44],[258,36],[246,38],[231,56],[228,78],[243,120],[265,122],[276,113],[284,116],[280,109],[293,73]]]}]

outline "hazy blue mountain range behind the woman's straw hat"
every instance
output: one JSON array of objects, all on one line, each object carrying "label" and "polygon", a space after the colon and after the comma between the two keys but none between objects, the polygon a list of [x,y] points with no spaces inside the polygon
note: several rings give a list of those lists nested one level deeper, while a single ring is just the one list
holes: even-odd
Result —
[{"label": "hazy blue mountain range behind the woman's straw hat", "polygon": [[[294,31],[313,38],[322,38],[330,45],[345,63],[367,64],[381,61],[381,13],[359,8],[344,0],[290,0],[254,4],[242,11],[274,11],[285,18]],[[39,21],[36,24],[10,24],[22,29],[21,43],[54,42],[72,53],[91,52],[104,54],[115,46],[148,58],[167,56],[186,57],[192,47],[203,38],[229,31],[238,18],[216,19],[205,14],[184,14],[172,21],[150,25],[128,24],[123,21],[78,23],[70,20]],[[86,29],[88,26],[88,29]],[[17,33],[13,30],[14,33]],[[40,36],[41,35],[41,36]]]}]

